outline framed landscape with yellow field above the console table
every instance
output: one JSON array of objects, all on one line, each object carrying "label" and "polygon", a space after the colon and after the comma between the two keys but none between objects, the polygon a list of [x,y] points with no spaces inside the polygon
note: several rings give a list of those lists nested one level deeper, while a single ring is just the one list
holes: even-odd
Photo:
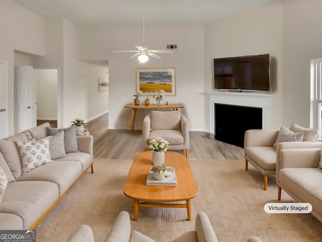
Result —
[{"label": "framed landscape with yellow field above the console table", "polygon": [[159,90],[166,96],[176,96],[176,68],[136,69],[136,92],[152,96]]}]

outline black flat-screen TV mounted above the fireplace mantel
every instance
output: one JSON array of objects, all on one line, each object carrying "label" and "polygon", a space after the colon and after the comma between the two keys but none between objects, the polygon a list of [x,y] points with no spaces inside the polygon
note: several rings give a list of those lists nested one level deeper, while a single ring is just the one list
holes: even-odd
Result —
[{"label": "black flat-screen TV mounted above the fireplace mantel", "polygon": [[215,58],[215,89],[269,91],[269,60],[269,54]]}]

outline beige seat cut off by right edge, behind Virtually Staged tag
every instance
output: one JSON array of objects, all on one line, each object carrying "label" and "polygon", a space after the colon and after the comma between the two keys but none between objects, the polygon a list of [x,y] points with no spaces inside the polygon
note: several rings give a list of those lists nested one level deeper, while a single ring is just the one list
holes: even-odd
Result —
[{"label": "beige seat cut off by right edge, behind Virtually Staged tag", "polygon": [[[276,163],[278,200],[282,189],[296,202],[310,203],[311,214],[322,222],[321,149],[281,150]],[[320,166],[322,164],[320,163]]]}]

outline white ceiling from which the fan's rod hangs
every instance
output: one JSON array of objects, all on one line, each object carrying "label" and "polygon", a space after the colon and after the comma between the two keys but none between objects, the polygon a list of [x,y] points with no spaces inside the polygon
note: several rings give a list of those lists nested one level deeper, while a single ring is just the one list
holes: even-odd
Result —
[{"label": "white ceiling from which the fan's rod hangs", "polygon": [[[13,0],[75,25],[137,25],[143,0]],[[280,0],[145,0],[145,24],[206,24]]]}]

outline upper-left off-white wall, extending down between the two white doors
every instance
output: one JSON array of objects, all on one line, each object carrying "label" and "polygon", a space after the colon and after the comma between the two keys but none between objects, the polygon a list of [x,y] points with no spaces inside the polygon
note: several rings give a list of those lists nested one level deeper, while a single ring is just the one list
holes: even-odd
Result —
[{"label": "upper-left off-white wall, extending down between the two white doors", "polygon": [[45,21],[41,16],[11,0],[1,1],[0,20],[0,59],[8,61],[9,135],[13,135],[14,52],[20,50],[34,54],[45,54]]}]

